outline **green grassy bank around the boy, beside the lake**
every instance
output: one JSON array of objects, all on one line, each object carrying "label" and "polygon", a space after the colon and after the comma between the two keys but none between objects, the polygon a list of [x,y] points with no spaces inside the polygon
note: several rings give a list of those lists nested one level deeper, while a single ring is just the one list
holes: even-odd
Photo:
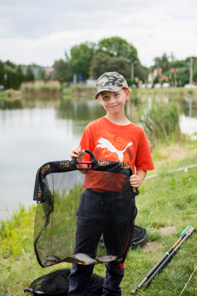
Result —
[{"label": "green grassy bank around the boy, beside the lake", "polygon": [[[168,170],[197,163],[197,141],[171,147],[157,147],[153,151],[157,178],[145,179],[136,197],[136,224],[148,232],[148,243],[129,253],[125,262],[125,277],[121,284],[123,295],[130,291],[152,268],[158,259],[177,240],[188,225],[197,227],[197,168],[188,172],[166,174]],[[69,267],[60,263],[42,269],[33,253],[33,220],[35,205],[15,213],[12,220],[2,222],[0,237],[0,292],[10,296],[24,295],[23,289],[37,277],[51,270]],[[158,275],[148,289],[138,295],[178,296],[197,265],[197,232],[186,240],[180,250]],[[95,272],[104,275],[104,265]],[[0,295],[1,295],[0,294]],[[197,295],[197,273],[193,275],[184,296]]]}]

